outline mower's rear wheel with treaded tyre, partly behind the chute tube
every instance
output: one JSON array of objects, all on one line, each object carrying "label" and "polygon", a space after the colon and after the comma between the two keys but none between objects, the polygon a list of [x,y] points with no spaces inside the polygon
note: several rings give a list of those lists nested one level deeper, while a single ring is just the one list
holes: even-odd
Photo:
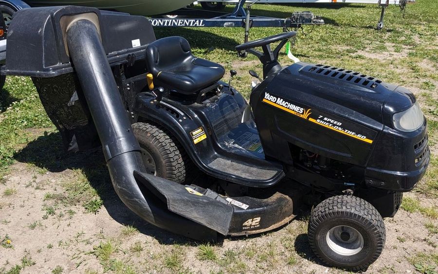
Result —
[{"label": "mower's rear wheel with treaded tyre, partly behind the chute tube", "polygon": [[176,183],[186,181],[193,164],[170,134],[148,123],[132,124],[132,130],[142,149],[148,173]]}]

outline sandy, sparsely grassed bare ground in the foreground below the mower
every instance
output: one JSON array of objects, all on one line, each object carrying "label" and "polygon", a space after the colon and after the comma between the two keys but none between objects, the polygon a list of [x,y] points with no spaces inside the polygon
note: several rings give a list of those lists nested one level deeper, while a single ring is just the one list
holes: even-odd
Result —
[{"label": "sandy, sparsely grassed bare ground in the foreground below the mower", "polygon": [[[14,164],[11,169],[6,183],[0,185],[0,237],[8,235],[13,248],[0,247],[0,269],[22,265],[24,258],[32,263],[21,273],[49,273],[57,266],[64,273],[102,273],[117,267],[125,273],[342,273],[322,265],[310,251],[305,218],[265,235],[225,238],[213,246],[215,260],[201,260],[201,243],[139,219],[118,199],[110,182],[101,196],[104,206],[90,214],[81,204],[65,205],[53,198],[66,194],[65,183],[75,178],[72,169],[41,172],[25,163]],[[15,189],[15,194],[4,196],[8,188]],[[47,216],[50,206],[54,212]],[[367,272],[415,272],[408,259],[419,252],[433,253],[434,245],[438,245],[436,235],[429,235],[424,227],[430,221],[403,210],[395,218],[386,219],[385,249]],[[126,225],[135,228],[128,233]],[[109,246],[109,259],[104,260]]]}]

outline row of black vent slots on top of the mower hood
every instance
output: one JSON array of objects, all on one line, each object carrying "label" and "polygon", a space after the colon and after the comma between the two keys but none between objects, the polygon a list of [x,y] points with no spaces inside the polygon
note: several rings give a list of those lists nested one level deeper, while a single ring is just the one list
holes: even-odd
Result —
[{"label": "row of black vent slots on top of the mower hood", "polygon": [[346,71],[342,68],[324,66],[321,64],[308,66],[307,68],[303,69],[303,71],[329,76],[330,78],[337,78],[353,84],[368,87],[370,89],[375,89],[380,83],[382,83],[382,81],[362,73]]}]

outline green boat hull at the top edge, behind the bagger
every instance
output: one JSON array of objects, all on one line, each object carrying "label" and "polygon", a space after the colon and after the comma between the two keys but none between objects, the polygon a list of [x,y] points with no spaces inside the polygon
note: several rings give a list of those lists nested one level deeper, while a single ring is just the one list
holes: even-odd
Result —
[{"label": "green boat hull at the top edge, behind the bagger", "polygon": [[26,2],[32,7],[75,5],[147,16],[183,8],[193,0],[28,0]]}]

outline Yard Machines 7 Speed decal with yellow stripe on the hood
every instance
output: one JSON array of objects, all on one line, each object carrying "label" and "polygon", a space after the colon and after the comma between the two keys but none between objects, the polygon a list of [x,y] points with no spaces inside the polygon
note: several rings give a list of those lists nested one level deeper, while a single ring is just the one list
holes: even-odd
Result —
[{"label": "Yard Machines 7 Speed decal with yellow stripe on the hood", "polygon": [[[329,117],[330,115],[326,115],[320,110],[310,109],[310,108],[299,106],[299,105],[297,105],[295,103],[291,103],[283,98],[271,95],[268,92],[265,92],[264,98],[262,99],[262,101],[266,104],[274,106],[275,108],[278,108],[280,110],[284,110],[284,111],[289,112],[295,116],[303,118],[311,123],[328,128],[330,130],[347,135],[351,138],[360,140],[360,141],[368,143],[368,144],[372,144],[373,139],[376,136],[376,132],[374,132],[370,129],[367,129],[364,127],[361,127],[359,130],[354,129],[354,128],[358,128],[359,126],[358,125],[348,125],[348,124],[352,124],[352,122],[342,121],[342,120],[344,120],[342,118]],[[311,114],[313,114],[313,115],[311,115]],[[367,130],[368,132],[372,131],[373,133],[371,133],[371,135],[373,135],[373,136],[372,137],[368,136],[369,134],[365,133],[365,132],[361,132],[361,133],[358,132],[358,131],[363,131],[363,130]]]}]

